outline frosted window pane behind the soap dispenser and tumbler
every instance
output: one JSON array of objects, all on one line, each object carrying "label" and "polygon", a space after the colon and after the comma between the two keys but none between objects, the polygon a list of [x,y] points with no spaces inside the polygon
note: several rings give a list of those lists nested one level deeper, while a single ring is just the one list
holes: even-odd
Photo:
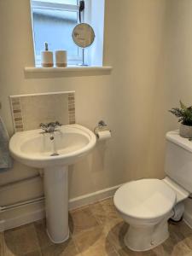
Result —
[{"label": "frosted window pane behind the soap dispenser and tumbler", "polygon": [[82,50],[72,38],[73,28],[78,23],[77,11],[32,8],[32,17],[36,64],[40,64],[45,42],[49,44],[50,50],[67,50],[68,63],[81,63]]}]

